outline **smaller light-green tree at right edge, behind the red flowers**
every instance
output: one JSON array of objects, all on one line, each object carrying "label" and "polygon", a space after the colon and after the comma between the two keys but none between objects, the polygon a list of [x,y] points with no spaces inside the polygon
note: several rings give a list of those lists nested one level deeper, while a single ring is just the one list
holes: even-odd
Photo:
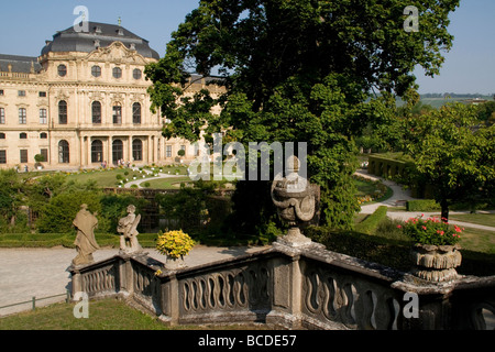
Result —
[{"label": "smaller light-green tree at right edge, behind the red flowers", "polygon": [[458,102],[405,120],[405,150],[415,160],[416,178],[432,186],[446,221],[453,202],[493,198],[495,127],[485,127],[479,111]]}]

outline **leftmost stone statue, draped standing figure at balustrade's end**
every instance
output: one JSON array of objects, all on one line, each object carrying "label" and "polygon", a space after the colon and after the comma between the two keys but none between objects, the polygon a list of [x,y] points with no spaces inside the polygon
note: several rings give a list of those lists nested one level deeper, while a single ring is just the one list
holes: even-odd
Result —
[{"label": "leftmost stone statue, draped standing figure at balustrade's end", "polygon": [[73,260],[74,265],[86,265],[94,262],[92,253],[100,249],[95,239],[95,229],[98,226],[96,213],[88,211],[87,205],[81,205],[79,212],[73,221],[77,229],[76,245],[77,256]]}]

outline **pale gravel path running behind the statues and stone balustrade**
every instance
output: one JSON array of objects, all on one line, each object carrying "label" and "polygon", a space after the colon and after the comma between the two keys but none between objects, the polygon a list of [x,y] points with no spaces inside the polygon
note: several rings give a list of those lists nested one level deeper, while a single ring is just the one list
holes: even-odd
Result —
[{"label": "pale gravel path running behind the statues and stone balustrade", "polygon": [[[185,257],[186,265],[197,266],[217,261],[265,250],[266,246],[206,246],[196,245]],[[156,250],[145,249],[148,255],[165,263],[165,257]],[[119,249],[101,249],[94,253],[95,261],[102,261],[119,253]],[[19,306],[1,308],[0,317],[32,308],[32,297],[44,298],[36,307],[63,301],[64,293],[70,290],[70,273],[67,268],[76,256],[76,250],[55,249],[0,249],[0,307],[25,302]]]}]

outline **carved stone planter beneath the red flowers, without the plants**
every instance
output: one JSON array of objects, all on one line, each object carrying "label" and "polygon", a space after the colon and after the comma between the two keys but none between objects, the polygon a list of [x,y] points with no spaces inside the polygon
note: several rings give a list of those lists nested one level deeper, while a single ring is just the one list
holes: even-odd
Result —
[{"label": "carved stone planter beneath the red flowers, without the plants", "polygon": [[458,277],[461,265],[461,246],[417,243],[411,250],[413,274],[430,282],[450,282]]}]

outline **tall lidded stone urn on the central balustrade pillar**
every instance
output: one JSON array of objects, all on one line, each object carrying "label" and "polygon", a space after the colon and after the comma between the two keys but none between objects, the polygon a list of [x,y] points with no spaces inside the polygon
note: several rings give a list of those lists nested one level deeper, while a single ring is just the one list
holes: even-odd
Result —
[{"label": "tall lidded stone urn on the central balustrade pillar", "polygon": [[299,160],[288,160],[288,175],[272,184],[272,200],[279,217],[289,224],[287,234],[277,242],[290,246],[304,246],[312,241],[305,237],[300,228],[312,220],[316,212],[319,186],[311,185],[299,173]]}]

